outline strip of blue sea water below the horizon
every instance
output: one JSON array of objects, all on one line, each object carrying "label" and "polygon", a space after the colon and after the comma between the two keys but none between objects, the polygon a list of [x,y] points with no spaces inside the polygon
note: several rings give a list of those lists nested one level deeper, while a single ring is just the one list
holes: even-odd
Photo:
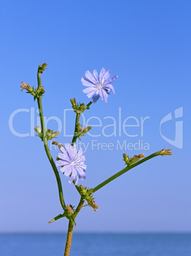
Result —
[{"label": "strip of blue sea water below the horizon", "polygon": [[[66,234],[0,234],[1,256],[61,256]],[[74,233],[70,256],[191,256],[191,234]]]}]

